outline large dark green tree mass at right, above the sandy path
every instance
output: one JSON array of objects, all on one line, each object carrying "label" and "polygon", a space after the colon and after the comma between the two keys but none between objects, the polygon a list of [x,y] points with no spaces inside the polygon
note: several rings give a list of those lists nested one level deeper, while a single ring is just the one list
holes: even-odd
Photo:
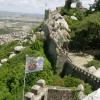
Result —
[{"label": "large dark green tree mass at right, above the sandy path", "polygon": [[71,27],[71,48],[77,50],[99,49],[100,45],[100,12],[89,15]]}]

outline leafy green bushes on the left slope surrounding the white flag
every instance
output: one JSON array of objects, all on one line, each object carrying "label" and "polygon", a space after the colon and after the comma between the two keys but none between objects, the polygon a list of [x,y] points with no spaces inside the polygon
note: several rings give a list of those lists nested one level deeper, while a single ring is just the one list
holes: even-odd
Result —
[{"label": "leafy green bushes on the left slope surrounding the white flag", "polygon": [[[2,89],[2,91],[0,91],[0,100],[14,100],[15,98],[17,100],[22,100],[26,54],[36,57],[44,56],[45,58],[43,71],[27,74],[26,90],[28,91],[30,87],[40,78],[45,79],[47,84],[52,82],[53,73],[51,70],[51,64],[48,62],[43,52],[43,41],[37,40],[36,43],[38,43],[37,47],[34,45],[35,43],[27,46],[25,50],[17,54],[12,59],[9,59],[7,63],[3,64],[0,68],[0,89]],[[13,48],[13,45],[10,45],[10,47]],[[3,51],[2,53],[6,55],[5,51]],[[8,51],[11,51],[10,48],[8,48]]]}]

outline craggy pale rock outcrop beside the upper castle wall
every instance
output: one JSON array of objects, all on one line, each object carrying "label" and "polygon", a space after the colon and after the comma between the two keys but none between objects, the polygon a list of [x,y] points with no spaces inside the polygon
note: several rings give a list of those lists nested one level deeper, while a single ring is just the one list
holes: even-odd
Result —
[{"label": "craggy pale rock outcrop beside the upper castle wall", "polygon": [[46,25],[49,29],[49,36],[55,41],[58,49],[62,48],[64,43],[69,42],[70,35],[68,32],[70,29],[68,23],[60,13],[51,12],[49,18],[46,20]]}]

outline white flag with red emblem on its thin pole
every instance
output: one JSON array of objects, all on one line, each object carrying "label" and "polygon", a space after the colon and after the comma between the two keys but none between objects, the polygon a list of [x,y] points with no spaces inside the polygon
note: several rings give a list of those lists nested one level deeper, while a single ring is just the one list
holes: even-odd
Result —
[{"label": "white flag with red emblem on its thin pole", "polygon": [[37,72],[43,70],[44,58],[43,57],[29,57],[26,55],[26,66],[23,85],[23,100],[25,94],[25,81],[27,73]]}]

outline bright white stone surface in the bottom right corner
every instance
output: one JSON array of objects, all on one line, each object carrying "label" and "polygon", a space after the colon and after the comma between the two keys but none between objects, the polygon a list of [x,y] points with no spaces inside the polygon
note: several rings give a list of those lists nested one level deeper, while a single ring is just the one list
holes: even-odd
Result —
[{"label": "bright white stone surface in the bottom right corner", "polygon": [[87,97],[85,97],[82,100],[100,100],[100,88],[91,94],[89,94]]}]

